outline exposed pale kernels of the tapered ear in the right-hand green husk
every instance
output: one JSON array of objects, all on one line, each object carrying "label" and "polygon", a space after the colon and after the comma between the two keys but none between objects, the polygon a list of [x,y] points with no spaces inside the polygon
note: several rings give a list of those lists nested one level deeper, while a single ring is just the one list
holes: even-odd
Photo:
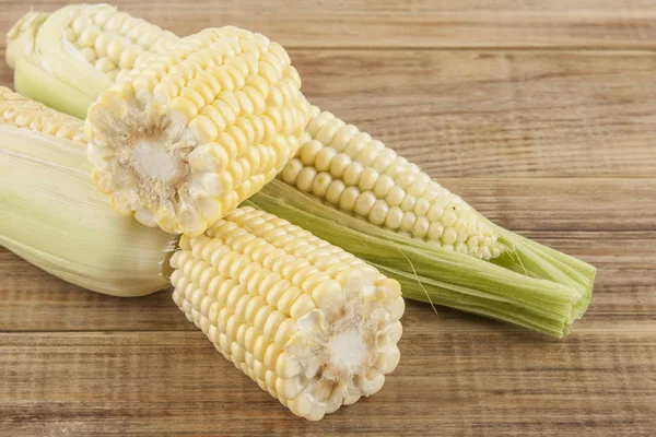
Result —
[{"label": "exposed pale kernels of the tapered ear in the right-hand green husk", "polygon": [[311,106],[298,153],[280,178],[341,211],[447,250],[484,260],[504,250],[462,199],[368,133],[316,106]]}]

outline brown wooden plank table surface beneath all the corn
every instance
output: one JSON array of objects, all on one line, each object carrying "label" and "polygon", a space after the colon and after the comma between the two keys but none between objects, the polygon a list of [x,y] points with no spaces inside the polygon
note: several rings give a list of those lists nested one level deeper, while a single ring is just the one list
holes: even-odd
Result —
[{"label": "brown wooden plank table surface beneath all the corn", "polygon": [[97,295],[0,249],[0,435],[656,435],[656,1],[119,3],[180,35],[230,23],[280,42],[313,103],[595,264],[593,303],[562,341],[409,303],[382,392],[309,423],[169,292]]}]

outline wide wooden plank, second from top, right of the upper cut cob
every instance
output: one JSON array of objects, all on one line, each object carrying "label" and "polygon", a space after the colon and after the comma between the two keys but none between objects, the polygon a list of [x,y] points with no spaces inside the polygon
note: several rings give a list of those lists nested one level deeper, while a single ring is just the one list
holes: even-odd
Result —
[{"label": "wide wooden plank, second from top, right of the upper cut cob", "polygon": [[[653,52],[291,56],[313,103],[434,177],[656,175]],[[11,82],[1,67],[0,83]]]}]

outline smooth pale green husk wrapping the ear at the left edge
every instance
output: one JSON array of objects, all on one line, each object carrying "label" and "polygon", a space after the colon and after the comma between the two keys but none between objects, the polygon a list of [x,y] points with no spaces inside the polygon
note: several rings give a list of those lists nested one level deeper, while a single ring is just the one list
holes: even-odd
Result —
[{"label": "smooth pale green husk wrapping the ear at the left edge", "polygon": [[161,269],[177,237],[118,215],[90,172],[84,144],[0,123],[0,245],[103,294],[169,286]]}]

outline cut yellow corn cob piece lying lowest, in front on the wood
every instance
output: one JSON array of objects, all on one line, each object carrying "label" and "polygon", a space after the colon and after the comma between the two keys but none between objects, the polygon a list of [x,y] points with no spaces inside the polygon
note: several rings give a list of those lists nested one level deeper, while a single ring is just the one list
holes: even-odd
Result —
[{"label": "cut yellow corn cob piece lying lowest, in front on the wood", "polygon": [[374,394],[398,364],[398,282],[282,218],[241,208],[171,265],[187,318],[296,415]]}]

